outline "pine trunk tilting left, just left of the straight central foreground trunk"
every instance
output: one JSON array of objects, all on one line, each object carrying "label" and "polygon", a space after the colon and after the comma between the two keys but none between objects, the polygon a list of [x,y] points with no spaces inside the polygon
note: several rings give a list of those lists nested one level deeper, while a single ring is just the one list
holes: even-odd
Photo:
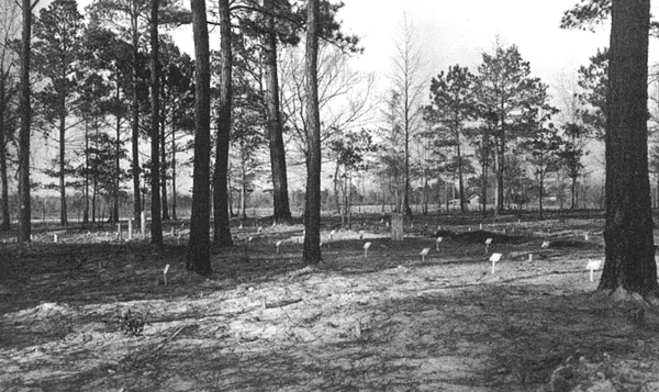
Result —
[{"label": "pine trunk tilting left, just left of the straight central foreground trunk", "polygon": [[270,139],[270,167],[272,169],[272,202],[275,221],[290,222],[291,209],[288,198],[286,149],[279,105],[279,81],[277,77],[277,32],[275,29],[275,0],[264,0],[266,11],[266,36],[264,40],[264,77],[266,79],[266,113]]}]

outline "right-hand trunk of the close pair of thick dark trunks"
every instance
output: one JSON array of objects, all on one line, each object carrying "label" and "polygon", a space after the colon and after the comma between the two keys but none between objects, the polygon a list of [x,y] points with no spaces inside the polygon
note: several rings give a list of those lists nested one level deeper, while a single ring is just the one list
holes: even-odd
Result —
[{"label": "right-hand trunk of the close pair of thick dark trunks", "polygon": [[217,102],[217,142],[213,172],[214,245],[232,246],[228,217],[228,142],[231,135],[232,53],[228,0],[219,1],[220,14],[220,102]]}]

